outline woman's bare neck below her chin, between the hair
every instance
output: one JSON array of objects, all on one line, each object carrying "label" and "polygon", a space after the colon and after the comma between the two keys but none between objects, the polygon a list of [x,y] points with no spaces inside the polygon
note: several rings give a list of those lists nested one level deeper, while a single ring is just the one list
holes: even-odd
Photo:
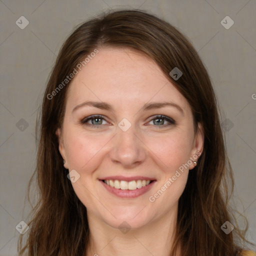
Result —
[{"label": "woman's bare neck below her chin, between the hair", "polygon": [[[124,231],[87,212],[90,232],[85,256],[168,256],[173,244],[176,213],[177,208],[148,225]],[[180,255],[179,248],[177,252],[176,255]]]}]

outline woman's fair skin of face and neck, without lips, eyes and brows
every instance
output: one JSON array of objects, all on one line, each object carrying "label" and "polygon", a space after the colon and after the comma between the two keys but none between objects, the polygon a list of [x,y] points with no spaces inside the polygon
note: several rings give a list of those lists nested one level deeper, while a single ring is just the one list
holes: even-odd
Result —
[{"label": "woman's fair skin of face and neck, without lips, eyes and brows", "polygon": [[[112,110],[82,106],[72,112],[84,101],[103,101]],[[141,110],[145,103],[162,101],[178,104],[183,113],[173,106]],[[81,123],[93,114],[104,116],[96,122],[101,124]],[[157,125],[154,115],[159,114],[174,119],[175,124],[165,120]],[[127,131],[118,127],[123,118],[131,124]],[[87,123],[92,124],[91,120]],[[63,125],[56,134],[65,168],[80,175],[72,186],[87,209],[86,255],[168,255],[178,198],[193,163],[154,202],[148,198],[189,157],[202,151],[203,132],[200,124],[194,132],[188,102],[161,69],[136,51],[100,48],[72,79]],[[98,180],[109,175],[143,175],[157,181],[136,198],[120,198]],[[130,226],[126,233],[118,228],[123,221]]]}]

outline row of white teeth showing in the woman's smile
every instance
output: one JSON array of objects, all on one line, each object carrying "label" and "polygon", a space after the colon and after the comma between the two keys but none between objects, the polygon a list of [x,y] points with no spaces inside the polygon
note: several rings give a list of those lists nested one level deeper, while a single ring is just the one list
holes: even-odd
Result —
[{"label": "row of white teeth showing in the woman's smile", "polygon": [[135,190],[137,188],[141,188],[142,186],[146,186],[150,183],[151,180],[131,180],[131,181],[125,181],[125,180],[117,180],[117,179],[107,179],[104,180],[104,183],[107,185],[117,188],[117,189],[122,189],[122,190]]}]

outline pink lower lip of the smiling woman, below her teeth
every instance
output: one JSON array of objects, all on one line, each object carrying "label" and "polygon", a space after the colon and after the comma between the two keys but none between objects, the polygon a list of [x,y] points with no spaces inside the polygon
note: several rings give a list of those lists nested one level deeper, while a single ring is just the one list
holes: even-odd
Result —
[{"label": "pink lower lip of the smiling woman, below her teeth", "polygon": [[108,190],[110,193],[117,195],[119,197],[122,198],[134,198],[134,197],[138,197],[139,195],[147,192],[155,183],[156,180],[153,180],[151,183],[149,183],[148,185],[142,186],[140,188],[136,188],[134,190],[129,190],[129,189],[117,189],[114,187],[111,187],[109,185],[107,185],[104,181],[99,180],[100,183],[103,184],[103,186],[106,188],[106,190]]}]

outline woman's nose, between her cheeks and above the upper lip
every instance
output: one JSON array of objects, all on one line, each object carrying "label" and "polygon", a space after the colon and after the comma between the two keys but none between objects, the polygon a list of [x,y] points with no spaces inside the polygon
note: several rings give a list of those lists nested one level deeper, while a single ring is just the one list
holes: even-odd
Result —
[{"label": "woman's nose, between her cheeks and above the upper lip", "polygon": [[131,126],[127,131],[117,127],[117,134],[109,152],[110,159],[125,168],[132,168],[141,164],[146,157],[145,145]]}]

